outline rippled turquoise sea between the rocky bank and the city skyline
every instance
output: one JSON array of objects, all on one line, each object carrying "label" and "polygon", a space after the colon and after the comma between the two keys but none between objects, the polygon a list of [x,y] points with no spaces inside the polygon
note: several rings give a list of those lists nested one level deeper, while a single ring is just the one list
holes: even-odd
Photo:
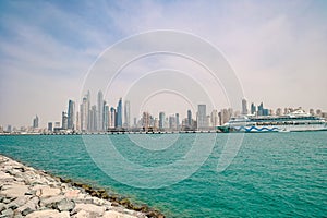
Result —
[{"label": "rippled turquoise sea between the rocky bank and the city skyline", "polygon": [[327,217],[326,131],[238,134],[2,135],[0,153],[166,217]]}]

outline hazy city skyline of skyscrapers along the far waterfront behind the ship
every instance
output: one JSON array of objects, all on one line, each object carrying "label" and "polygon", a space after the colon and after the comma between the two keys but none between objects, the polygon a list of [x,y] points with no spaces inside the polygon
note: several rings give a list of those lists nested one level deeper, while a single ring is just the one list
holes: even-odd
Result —
[{"label": "hazy city skyline of skyscrapers along the far waterfront behind the ship", "polygon": [[[68,111],[62,111],[61,122],[48,122],[47,128],[39,128],[39,118],[36,114],[32,126],[20,129],[0,126],[0,134],[94,134],[94,133],[116,133],[116,132],[210,132],[217,131],[217,126],[227,123],[231,117],[240,114],[252,116],[283,116],[293,112],[300,108],[277,108],[276,110],[264,108],[261,102],[255,106],[253,102],[247,109],[246,99],[242,99],[241,111],[232,108],[214,109],[207,113],[206,105],[197,105],[195,119],[192,110],[186,111],[186,118],[180,118],[179,113],[166,114],[159,112],[158,117],[147,111],[142,113],[140,119],[134,118],[131,124],[131,104],[129,100],[123,102],[122,98],[118,100],[114,108],[104,100],[102,92],[97,95],[97,105],[92,105],[90,93],[83,97],[80,110],[76,110],[75,102],[69,100]],[[327,120],[327,112],[320,109],[308,111],[312,116],[317,116]]]}]

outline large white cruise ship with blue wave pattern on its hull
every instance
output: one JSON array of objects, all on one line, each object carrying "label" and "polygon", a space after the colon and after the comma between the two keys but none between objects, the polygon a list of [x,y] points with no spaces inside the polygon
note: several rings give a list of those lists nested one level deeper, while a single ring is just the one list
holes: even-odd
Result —
[{"label": "large white cruise ship with blue wave pattern on its hull", "polygon": [[231,118],[218,130],[245,133],[326,131],[327,122],[304,110],[296,110],[286,116],[240,116]]}]

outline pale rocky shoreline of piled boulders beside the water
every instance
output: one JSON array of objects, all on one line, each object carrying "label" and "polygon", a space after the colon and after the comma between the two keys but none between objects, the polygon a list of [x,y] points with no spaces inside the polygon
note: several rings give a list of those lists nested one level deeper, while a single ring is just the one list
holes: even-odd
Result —
[{"label": "pale rocky shoreline of piled boulders beside the water", "polygon": [[104,189],[53,177],[0,155],[0,218],[145,218],[165,216]]}]

